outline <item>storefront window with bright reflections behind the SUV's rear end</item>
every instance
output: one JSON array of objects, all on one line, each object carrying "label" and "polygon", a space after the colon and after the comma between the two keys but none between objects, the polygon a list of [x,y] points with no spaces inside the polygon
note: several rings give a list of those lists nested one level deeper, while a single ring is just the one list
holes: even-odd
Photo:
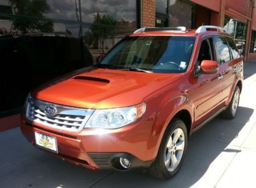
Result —
[{"label": "storefront window with bright reflections behind the SUV's rear end", "polygon": [[240,55],[244,56],[247,24],[240,20],[225,16],[224,29],[233,37]]}]

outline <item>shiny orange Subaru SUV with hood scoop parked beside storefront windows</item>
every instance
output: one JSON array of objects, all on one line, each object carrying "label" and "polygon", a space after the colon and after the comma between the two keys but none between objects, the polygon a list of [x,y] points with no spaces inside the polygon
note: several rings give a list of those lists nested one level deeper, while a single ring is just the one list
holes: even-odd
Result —
[{"label": "shiny orange Subaru SUV with hood scoop parked beside storefront windows", "polygon": [[20,128],[31,144],[89,169],[168,179],[191,133],[237,114],[243,61],[223,28],[142,28],[99,59],[30,93]]}]

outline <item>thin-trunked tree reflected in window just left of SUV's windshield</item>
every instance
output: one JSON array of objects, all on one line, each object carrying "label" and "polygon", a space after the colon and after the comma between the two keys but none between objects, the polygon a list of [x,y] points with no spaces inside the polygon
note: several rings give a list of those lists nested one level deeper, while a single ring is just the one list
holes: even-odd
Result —
[{"label": "thin-trunked tree reflected in window just left of SUV's windshield", "polygon": [[113,37],[116,20],[109,15],[101,16],[99,13],[97,13],[94,15],[93,23],[94,25],[90,27],[93,37],[93,46],[97,48],[98,41],[100,41],[102,45],[102,53],[104,54],[105,39]]}]

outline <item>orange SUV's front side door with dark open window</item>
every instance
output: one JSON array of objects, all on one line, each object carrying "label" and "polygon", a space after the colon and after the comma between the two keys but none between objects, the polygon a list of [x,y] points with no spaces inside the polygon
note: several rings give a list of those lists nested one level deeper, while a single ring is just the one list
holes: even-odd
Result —
[{"label": "orange SUV's front side door with dark open window", "polygon": [[218,110],[222,93],[222,69],[216,74],[200,73],[200,64],[203,60],[216,60],[216,53],[212,37],[203,39],[198,53],[196,69],[199,72],[194,77],[194,87],[188,93],[193,99],[195,108],[195,123],[200,123]]}]

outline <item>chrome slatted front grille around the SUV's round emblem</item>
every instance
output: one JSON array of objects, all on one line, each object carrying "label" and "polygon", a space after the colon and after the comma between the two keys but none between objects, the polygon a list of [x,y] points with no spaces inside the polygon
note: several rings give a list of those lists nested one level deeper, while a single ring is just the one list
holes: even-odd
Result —
[{"label": "chrome slatted front grille around the SUV's round emblem", "polygon": [[[57,109],[55,115],[47,115],[45,107],[52,105]],[[33,122],[66,131],[81,131],[94,110],[73,108],[30,98],[27,106],[27,118]]]}]

